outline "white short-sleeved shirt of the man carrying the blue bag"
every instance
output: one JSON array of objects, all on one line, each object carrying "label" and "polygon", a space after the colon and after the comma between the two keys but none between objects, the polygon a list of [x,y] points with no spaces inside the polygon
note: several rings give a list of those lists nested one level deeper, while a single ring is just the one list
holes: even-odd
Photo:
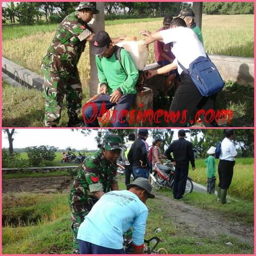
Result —
[{"label": "white short-sleeved shirt of the man carrying the blue bag", "polygon": [[[206,57],[204,46],[191,28],[179,26],[161,30],[159,33],[163,37],[165,44],[173,42],[172,52],[176,57],[173,63],[178,63],[179,61],[185,69],[188,69],[189,64],[196,58],[199,56]],[[179,74],[182,71],[178,65]]]}]

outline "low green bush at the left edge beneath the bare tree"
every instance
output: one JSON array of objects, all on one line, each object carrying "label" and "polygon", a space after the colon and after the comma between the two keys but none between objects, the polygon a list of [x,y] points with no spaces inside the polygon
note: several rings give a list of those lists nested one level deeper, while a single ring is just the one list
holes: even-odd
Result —
[{"label": "low green bush at the left edge beneath the bare tree", "polygon": [[2,167],[3,168],[25,168],[29,163],[26,159],[20,158],[20,153],[13,152],[11,156],[5,148],[2,150]]}]

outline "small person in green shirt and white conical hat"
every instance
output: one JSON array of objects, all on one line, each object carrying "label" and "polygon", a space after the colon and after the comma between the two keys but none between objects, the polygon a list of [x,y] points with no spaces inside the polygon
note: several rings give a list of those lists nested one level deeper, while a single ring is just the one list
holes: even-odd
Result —
[{"label": "small person in green shirt and white conical hat", "polygon": [[209,156],[205,159],[205,163],[207,166],[207,193],[209,194],[215,193],[215,149],[215,147],[211,146],[207,151],[207,154]]}]

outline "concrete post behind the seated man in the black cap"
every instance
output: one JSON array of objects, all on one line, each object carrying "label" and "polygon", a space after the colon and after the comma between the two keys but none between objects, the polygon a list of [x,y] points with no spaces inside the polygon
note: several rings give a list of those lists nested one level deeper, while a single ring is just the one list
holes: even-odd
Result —
[{"label": "concrete post behind the seated man in the black cap", "polygon": [[[103,2],[97,2],[96,8],[100,11],[99,14],[93,15],[93,18],[95,19],[93,23],[93,30],[94,33],[98,31],[105,30],[105,16],[104,16],[104,3]],[[97,94],[98,90],[98,72],[97,67],[95,63],[95,55],[91,53],[91,43],[89,43],[90,49],[89,49],[89,57],[90,57],[90,80],[89,80],[89,88],[90,88],[90,97]]]}]

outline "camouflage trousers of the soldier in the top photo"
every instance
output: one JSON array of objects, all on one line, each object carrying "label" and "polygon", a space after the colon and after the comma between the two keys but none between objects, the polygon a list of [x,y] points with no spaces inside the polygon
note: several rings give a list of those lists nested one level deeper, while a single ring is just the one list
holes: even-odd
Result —
[{"label": "camouflage trousers of the soldier in the top photo", "polygon": [[66,96],[68,115],[76,116],[82,107],[82,86],[78,72],[54,73],[42,65],[44,74],[45,125],[56,125]]}]

